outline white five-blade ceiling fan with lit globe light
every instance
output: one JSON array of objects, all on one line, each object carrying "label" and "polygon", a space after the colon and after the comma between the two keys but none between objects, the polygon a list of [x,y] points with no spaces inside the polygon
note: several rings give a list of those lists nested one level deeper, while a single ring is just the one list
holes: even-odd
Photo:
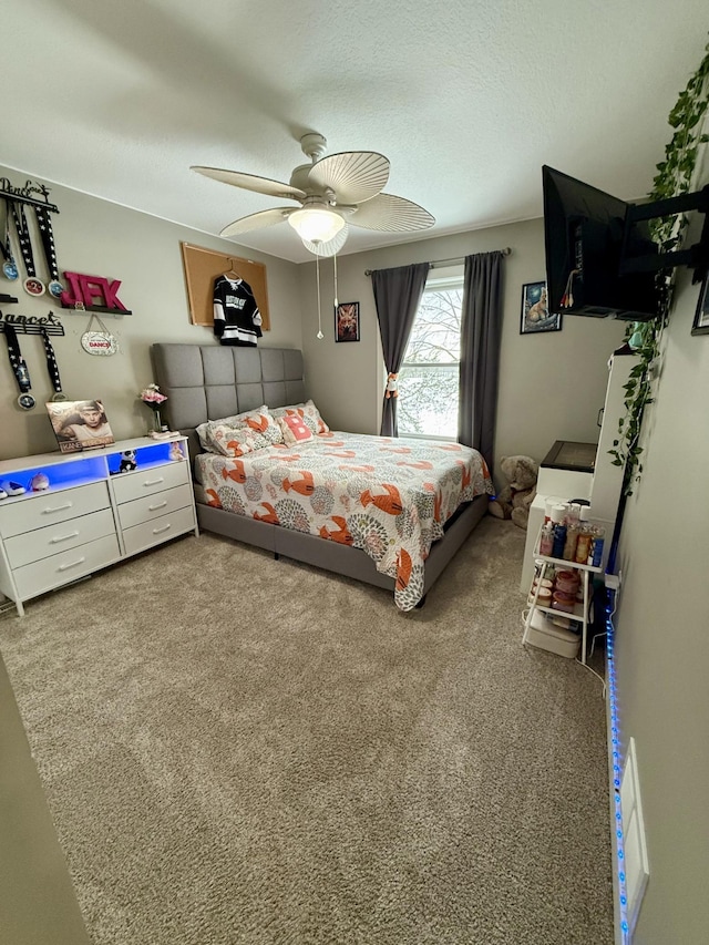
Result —
[{"label": "white five-blade ceiling fan with lit globe light", "polygon": [[287,220],[310,253],[335,256],[345,245],[350,225],[383,233],[413,233],[435,223],[428,210],[412,201],[382,194],[390,166],[383,154],[343,151],[326,157],[327,142],[314,132],[302,135],[300,147],[311,164],[296,167],[289,184],[239,171],[192,167],[224,184],[300,204],[249,214],[225,226],[219,236],[238,236]]}]

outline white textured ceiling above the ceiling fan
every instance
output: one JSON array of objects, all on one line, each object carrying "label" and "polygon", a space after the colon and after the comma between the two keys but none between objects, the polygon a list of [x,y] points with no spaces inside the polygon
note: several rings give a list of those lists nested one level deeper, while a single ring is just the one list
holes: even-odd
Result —
[{"label": "white textured ceiling above the ceiling fan", "polygon": [[[0,163],[210,234],[284,201],[189,166],[287,182],[309,131],[386,154],[424,238],[541,216],[542,164],[634,199],[707,27],[706,0],[0,0]],[[285,224],[238,242],[314,258]]]}]

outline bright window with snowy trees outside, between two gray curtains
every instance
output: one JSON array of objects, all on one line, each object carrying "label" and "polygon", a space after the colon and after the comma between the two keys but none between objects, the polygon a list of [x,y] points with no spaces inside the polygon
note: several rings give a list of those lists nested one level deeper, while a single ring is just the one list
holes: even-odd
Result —
[{"label": "bright window with snowy trees outside, between two gray curtains", "polygon": [[400,436],[458,439],[463,276],[429,279],[399,371]]}]

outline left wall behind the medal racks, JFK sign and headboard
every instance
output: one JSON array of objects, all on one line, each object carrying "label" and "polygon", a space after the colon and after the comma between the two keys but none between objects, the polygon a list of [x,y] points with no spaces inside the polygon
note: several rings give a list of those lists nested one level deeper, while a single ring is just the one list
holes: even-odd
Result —
[{"label": "left wall behind the medal racks, JFK sign and headboard", "polygon": [[[28,175],[0,167],[0,176],[21,186]],[[52,218],[60,271],[78,271],[120,279],[119,298],[133,315],[100,315],[116,335],[121,352],[110,358],[88,355],[81,347],[90,315],[62,309],[48,295],[31,298],[21,283],[0,277],[0,292],[16,296],[17,305],[4,312],[44,316],[51,309],[64,325],[65,336],[52,338],[62,387],[70,400],[103,399],[116,439],[141,435],[146,430],[147,408],[137,392],[153,380],[150,346],[156,341],[217,343],[208,328],[192,325],[179,244],[191,243],[266,265],[271,330],[268,347],[300,348],[298,267],[235,243],[206,236],[184,226],[48,184],[50,201],[59,207]],[[31,214],[30,216],[33,216]],[[35,254],[37,255],[37,254]],[[43,268],[39,269],[43,274]],[[17,405],[18,387],[10,369],[6,343],[0,339],[0,459],[56,450],[45,400],[53,393],[39,336],[19,336],[32,379],[37,407]]]}]

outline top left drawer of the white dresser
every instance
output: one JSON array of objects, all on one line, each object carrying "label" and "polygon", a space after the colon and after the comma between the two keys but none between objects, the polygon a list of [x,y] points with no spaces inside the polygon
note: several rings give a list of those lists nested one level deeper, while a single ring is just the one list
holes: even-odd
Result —
[{"label": "top left drawer of the white dresser", "polygon": [[11,538],[23,532],[33,532],[44,525],[65,522],[76,515],[88,515],[110,506],[105,482],[28,495],[11,505],[0,505],[0,534],[3,538]]}]

